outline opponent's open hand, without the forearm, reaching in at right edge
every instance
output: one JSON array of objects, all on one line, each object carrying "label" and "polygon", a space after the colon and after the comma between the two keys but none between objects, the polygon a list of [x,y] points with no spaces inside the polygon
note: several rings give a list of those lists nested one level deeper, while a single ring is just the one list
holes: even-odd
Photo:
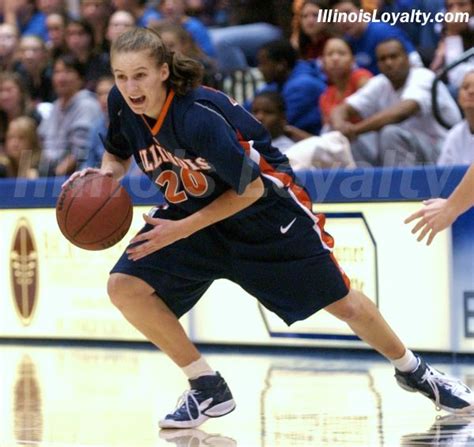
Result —
[{"label": "opponent's open hand, without the forearm, reaching in at right edge", "polygon": [[446,199],[430,199],[423,202],[424,207],[405,219],[408,224],[418,219],[411,232],[419,232],[417,241],[422,241],[427,235],[426,245],[433,242],[434,237],[445,228],[448,228],[456,219],[456,215],[451,212]]}]

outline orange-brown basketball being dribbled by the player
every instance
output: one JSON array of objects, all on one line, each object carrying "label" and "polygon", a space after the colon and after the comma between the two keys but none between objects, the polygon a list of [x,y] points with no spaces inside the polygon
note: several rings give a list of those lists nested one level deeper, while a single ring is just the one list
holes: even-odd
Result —
[{"label": "orange-brown basketball being dribbled by the player", "polygon": [[132,216],[127,191],[112,177],[99,173],[74,179],[56,203],[61,233],[85,250],[104,250],[121,241]]}]

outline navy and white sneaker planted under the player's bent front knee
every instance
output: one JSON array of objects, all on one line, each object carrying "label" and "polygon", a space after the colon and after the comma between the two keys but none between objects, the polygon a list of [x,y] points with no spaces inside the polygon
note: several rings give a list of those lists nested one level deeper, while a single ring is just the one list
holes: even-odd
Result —
[{"label": "navy and white sneaker planted under the player's bent front knee", "polygon": [[235,409],[232,393],[219,373],[191,379],[189,385],[191,389],[179,398],[176,410],[159,422],[161,428],[198,427]]}]

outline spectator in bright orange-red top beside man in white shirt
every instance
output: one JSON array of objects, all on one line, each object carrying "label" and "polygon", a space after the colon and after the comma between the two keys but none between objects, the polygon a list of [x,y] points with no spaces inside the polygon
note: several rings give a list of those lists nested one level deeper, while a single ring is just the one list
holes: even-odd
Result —
[{"label": "spectator in bright orange-red top beside man in white shirt", "polygon": [[[363,87],[372,77],[372,73],[365,68],[355,68],[352,48],[344,39],[338,37],[326,42],[322,64],[329,85],[319,98],[319,107],[323,123],[328,126],[334,108]],[[357,119],[354,118],[352,122],[357,122]]]}]

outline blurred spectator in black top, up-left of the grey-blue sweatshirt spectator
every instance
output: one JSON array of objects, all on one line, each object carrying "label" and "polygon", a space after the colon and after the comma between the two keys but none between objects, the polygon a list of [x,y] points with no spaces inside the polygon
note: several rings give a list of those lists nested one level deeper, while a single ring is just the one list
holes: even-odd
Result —
[{"label": "blurred spectator in black top, up-left of the grey-blue sweatshirt spectator", "polygon": [[20,39],[20,64],[17,70],[34,104],[55,99],[48,50],[39,37],[25,36]]}]

